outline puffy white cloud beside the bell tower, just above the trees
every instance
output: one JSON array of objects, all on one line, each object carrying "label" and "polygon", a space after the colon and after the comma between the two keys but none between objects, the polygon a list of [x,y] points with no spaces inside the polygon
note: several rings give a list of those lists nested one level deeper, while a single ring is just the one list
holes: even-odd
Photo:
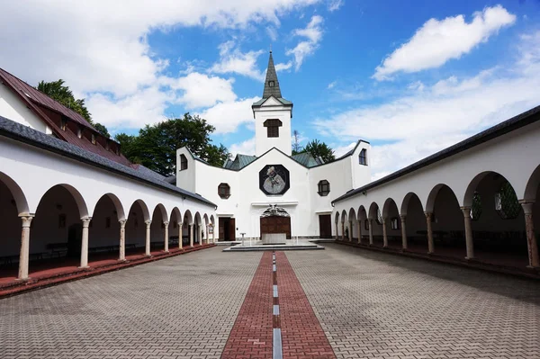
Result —
[{"label": "puffy white cloud beside the bell tower, just above the trees", "polygon": [[234,132],[238,129],[239,125],[254,121],[251,105],[258,100],[260,100],[259,97],[253,97],[218,103],[204,110],[200,115],[216,127],[215,133]]}]

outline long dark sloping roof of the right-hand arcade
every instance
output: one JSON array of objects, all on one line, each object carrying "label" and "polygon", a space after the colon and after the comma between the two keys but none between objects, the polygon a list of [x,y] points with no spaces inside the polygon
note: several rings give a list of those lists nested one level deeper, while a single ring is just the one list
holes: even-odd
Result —
[{"label": "long dark sloping roof of the right-hand arcade", "polygon": [[351,190],[339,196],[337,199],[332,201],[332,203],[346,200],[347,198],[355,196],[358,193],[363,193],[381,184],[386,184],[395,179],[398,179],[403,175],[409,175],[410,173],[414,171],[418,171],[420,168],[432,165],[445,158],[455,156],[456,154],[461,153],[467,149],[474,148],[475,146],[481,145],[484,142],[487,142],[491,139],[496,139],[513,130],[518,130],[536,121],[540,121],[540,106],[536,106],[535,108],[532,108],[527,112],[520,113],[517,116],[514,116],[507,121],[502,121],[498,125],[495,125],[487,130],[483,130],[482,132],[477,133],[476,135],[468,139],[464,139],[463,141],[456,143],[454,146],[450,146],[449,148],[445,148],[431,156],[428,156],[424,159],[420,159],[418,162],[415,162],[410,166],[401,168],[400,170],[390,175],[387,175],[377,181],[374,181],[369,184],[365,184],[362,187]]}]

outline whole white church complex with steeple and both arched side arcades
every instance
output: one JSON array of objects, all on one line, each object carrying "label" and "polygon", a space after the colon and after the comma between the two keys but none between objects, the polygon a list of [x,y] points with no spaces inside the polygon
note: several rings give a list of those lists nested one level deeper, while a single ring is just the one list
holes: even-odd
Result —
[{"label": "whole white church complex with steeple and both arched side arcades", "polygon": [[252,110],[255,156],[166,178],[0,68],[0,290],[266,233],[540,276],[540,106],[374,182],[364,140],[292,155],[272,54]]}]

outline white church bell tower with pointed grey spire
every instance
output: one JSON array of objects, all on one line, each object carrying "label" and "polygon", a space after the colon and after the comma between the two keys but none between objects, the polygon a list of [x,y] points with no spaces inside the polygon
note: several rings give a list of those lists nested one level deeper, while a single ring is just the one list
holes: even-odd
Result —
[{"label": "white church bell tower with pointed grey spire", "polygon": [[265,154],[271,148],[278,148],[291,156],[293,103],[282,97],[272,51],[268,58],[263,98],[253,103],[251,108],[255,117],[256,156]]}]

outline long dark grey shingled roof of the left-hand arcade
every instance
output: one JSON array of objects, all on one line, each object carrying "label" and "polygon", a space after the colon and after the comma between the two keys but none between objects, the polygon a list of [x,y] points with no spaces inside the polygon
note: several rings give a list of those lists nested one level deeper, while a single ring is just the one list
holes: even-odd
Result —
[{"label": "long dark grey shingled roof of the left-hand arcade", "polygon": [[128,177],[141,183],[158,187],[170,193],[190,197],[193,201],[202,202],[214,207],[216,206],[199,194],[185,191],[173,184],[168,184],[165,181],[164,176],[156,174],[144,166],[139,166],[138,169],[132,168],[131,166],[123,166],[118,162],[96,155],[93,152],[86,151],[83,148],[67,143],[61,139],[55,139],[39,130],[32,130],[30,127],[8,120],[2,116],[0,116],[0,136],[14,139],[35,148],[41,148],[56,153],[60,156],[75,159],[76,161],[90,166],[102,168],[113,174]]}]

